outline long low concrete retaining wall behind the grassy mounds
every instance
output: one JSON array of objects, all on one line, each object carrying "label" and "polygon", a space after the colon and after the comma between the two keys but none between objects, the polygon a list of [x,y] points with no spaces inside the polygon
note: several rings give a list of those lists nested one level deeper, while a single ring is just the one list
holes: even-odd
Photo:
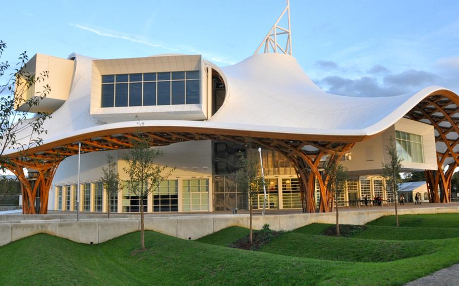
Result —
[{"label": "long low concrete retaining wall behind the grassy mounds", "polygon": [[[398,211],[399,215],[449,212],[459,212],[459,206],[408,208]],[[380,217],[391,216],[393,213],[394,211],[391,209],[342,211],[339,215],[339,222],[341,224],[364,225]],[[88,217],[79,222],[62,221],[60,220],[62,218],[56,219],[58,217],[54,219],[43,217],[41,220],[35,218],[35,220],[20,222],[0,222],[0,246],[38,233],[47,233],[80,243],[95,244],[140,230],[140,220],[136,217],[114,219],[101,219],[100,217],[90,219],[90,216]],[[261,229],[264,224],[269,224],[273,230],[291,231],[312,223],[334,224],[335,213],[298,213],[263,217],[257,215],[253,218],[254,229]],[[231,226],[248,228],[249,215],[210,214],[145,218],[146,230],[182,239],[198,239]]]}]

